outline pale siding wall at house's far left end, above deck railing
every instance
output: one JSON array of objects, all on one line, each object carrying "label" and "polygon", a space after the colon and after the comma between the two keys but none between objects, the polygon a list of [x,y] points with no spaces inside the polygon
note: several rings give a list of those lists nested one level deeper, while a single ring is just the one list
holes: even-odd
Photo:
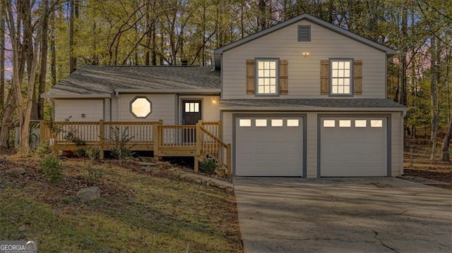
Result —
[{"label": "pale siding wall at house's far left end, above deck railing", "polygon": [[[85,114],[85,117],[82,117]],[[55,121],[100,121],[104,119],[103,99],[55,99]]]}]

